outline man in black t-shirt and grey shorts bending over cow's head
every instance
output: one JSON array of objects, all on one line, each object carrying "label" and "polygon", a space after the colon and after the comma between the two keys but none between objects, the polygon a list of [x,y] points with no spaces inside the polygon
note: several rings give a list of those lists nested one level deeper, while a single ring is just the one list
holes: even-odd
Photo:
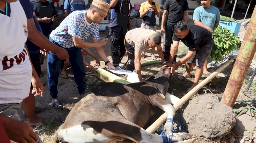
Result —
[{"label": "man in black t-shirt and grey shorts bending over cow's head", "polygon": [[[170,58],[167,62],[167,66],[170,66],[171,73],[173,74],[175,69],[186,62],[186,71],[189,73],[193,63],[196,63],[197,69],[195,74],[195,81],[192,86],[187,90],[189,92],[199,82],[203,74],[203,64],[212,51],[213,38],[212,33],[205,28],[198,25],[186,25],[186,23],[180,21],[174,25],[173,43],[170,52]],[[180,61],[172,64],[173,57],[178,50],[180,40],[188,47],[186,56]]]}]

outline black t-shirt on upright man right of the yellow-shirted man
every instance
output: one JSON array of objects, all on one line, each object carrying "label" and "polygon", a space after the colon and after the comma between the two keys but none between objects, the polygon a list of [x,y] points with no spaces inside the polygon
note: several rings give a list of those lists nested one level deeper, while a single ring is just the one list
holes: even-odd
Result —
[{"label": "black t-shirt on upright man right of the yellow-shirted man", "polygon": [[188,3],[187,0],[166,0],[163,9],[168,10],[166,25],[173,26],[182,21],[183,11],[188,9]]}]

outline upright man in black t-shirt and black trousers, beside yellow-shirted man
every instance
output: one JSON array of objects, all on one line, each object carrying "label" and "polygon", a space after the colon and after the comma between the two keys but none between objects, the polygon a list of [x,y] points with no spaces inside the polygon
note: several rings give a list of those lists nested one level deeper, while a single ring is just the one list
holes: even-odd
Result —
[{"label": "upright man in black t-shirt and black trousers, beside yellow-shirted man", "polygon": [[[182,21],[183,17],[184,22],[187,24],[188,3],[187,0],[166,0],[165,4],[163,5],[163,9],[161,35],[164,36],[163,54],[165,55],[165,60],[167,61],[170,55],[174,25],[177,22]],[[164,25],[165,28],[163,28]],[[174,61],[176,61],[176,56]]]}]

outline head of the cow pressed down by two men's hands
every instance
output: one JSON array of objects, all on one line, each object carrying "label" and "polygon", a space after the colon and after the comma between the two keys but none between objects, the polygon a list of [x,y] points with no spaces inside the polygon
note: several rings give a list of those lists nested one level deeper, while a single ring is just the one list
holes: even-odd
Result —
[{"label": "head of the cow pressed down by two men's hands", "polygon": [[156,83],[157,87],[165,94],[169,88],[169,82],[171,80],[171,69],[163,67],[156,75],[148,77],[146,81]]}]

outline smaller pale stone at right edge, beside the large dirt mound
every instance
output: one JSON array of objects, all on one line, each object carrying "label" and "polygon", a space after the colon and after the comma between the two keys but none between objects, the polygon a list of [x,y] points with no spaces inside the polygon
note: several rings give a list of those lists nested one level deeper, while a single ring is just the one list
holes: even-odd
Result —
[{"label": "smaller pale stone at right edge, beside the large dirt mound", "polygon": [[256,122],[252,121],[250,115],[243,114],[238,117],[236,125],[233,127],[232,131],[235,134],[241,136],[252,136],[252,131],[255,129]]}]

